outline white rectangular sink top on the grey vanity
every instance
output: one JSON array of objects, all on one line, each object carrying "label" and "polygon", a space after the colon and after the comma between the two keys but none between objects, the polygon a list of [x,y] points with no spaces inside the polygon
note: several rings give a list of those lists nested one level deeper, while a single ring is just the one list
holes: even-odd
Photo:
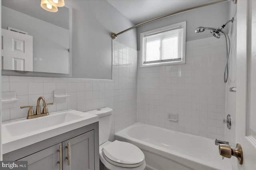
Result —
[{"label": "white rectangular sink top on the grey vanity", "polygon": [[2,123],[3,154],[98,121],[98,116],[72,109],[34,119]]}]

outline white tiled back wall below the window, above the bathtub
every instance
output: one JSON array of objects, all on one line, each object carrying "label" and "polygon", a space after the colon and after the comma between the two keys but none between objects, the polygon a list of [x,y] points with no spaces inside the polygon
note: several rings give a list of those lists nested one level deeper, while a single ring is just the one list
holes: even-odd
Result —
[{"label": "white tiled back wall below the window, above the bathtub", "polygon": [[225,64],[222,36],[188,41],[186,64],[138,68],[138,121],[224,140]]}]

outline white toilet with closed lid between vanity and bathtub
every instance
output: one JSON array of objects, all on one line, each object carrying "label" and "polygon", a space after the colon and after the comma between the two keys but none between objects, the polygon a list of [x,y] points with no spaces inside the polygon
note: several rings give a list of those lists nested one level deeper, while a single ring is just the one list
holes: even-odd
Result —
[{"label": "white toilet with closed lid between vanity and bathtub", "polygon": [[99,152],[100,161],[104,164],[104,168],[100,167],[100,170],[145,169],[145,156],[138,147],[122,141],[108,141],[112,109],[105,107],[86,113],[99,116]]}]

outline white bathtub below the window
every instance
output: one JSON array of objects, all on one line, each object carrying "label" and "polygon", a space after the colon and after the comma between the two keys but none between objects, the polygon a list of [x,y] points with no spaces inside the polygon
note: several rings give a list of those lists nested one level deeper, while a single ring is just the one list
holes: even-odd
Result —
[{"label": "white bathtub below the window", "polygon": [[161,127],[134,123],[115,134],[145,154],[146,170],[232,170],[214,140]]}]

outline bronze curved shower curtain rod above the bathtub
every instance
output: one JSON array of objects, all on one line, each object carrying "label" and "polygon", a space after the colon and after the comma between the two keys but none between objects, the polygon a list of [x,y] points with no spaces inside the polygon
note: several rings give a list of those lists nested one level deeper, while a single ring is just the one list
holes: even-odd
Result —
[{"label": "bronze curved shower curtain rod above the bathtub", "polygon": [[204,5],[199,5],[199,6],[195,6],[195,7],[191,7],[191,8],[186,8],[184,10],[179,10],[179,11],[176,11],[176,12],[173,12],[173,13],[170,13],[170,14],[167,14],[167,15],[164,15],[164,16],[160,16],[158,18],[154,18],[152,20],[148,20],[148,21],[145,21],[145,22],[142,22],[142,23],[139,23],[137,25],[134,25],[124,31],[121,31],[120,33],[111,33],[111,37],[112,39],[116,39],[118,35],[130,30],[130,29],[133,29],[133,28],[136,28],[136,27],[140,27],[142,25],[145,25],[147,23],[150,23],[150,22],[153,22],[153,21],[156,21],[156,20],[160,20],[160,19],[163,19],[163,18],[166,18],[166,17],[169,17],[169,16],[173,16],[173,15],[176,15],[176,14],[180,14],[182,12],[187,12],[187,11],[190,11],[190,10],[194,10],[194,9],[197,9],[197,8],[201,8],[201,7],[204,7],[204,6],[209,6],[209,5],[213,5],[213,4],[218,4],[218,3],[222,3],[222,2],[229,2],[229,1],[233,1],[234,4],[236,4],[237,0],[220,0],[220,1],[217,1],[217,2],[211,2],[211,3],[208,3],[208,4],[204,4]]}]

